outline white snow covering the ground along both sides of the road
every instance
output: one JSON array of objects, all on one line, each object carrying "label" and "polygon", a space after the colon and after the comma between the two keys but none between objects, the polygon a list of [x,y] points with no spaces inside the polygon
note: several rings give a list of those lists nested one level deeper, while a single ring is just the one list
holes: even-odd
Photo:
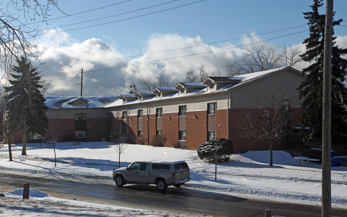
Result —
[{"label": "white snow covering the ground along both sides of the road", "polygon": [[[11,162],[8,161],[8,147],[6,145],[0,147],[0,169],[92,179],[109,179],[110,182],[113,182],[111,169],[118,167],[118,154],[110,143],[94,142],[81,143],[79,145],[58,143],[57,146],[56,153],[59,161],[57,167],[54,167],[54,162],[51,162],[52,160],[54,161],[54,151],[47,148],[46,144],[42,144],[41,147],[39,144],[28,144],[28,156],[20,155],[22,153],[21,144],[12,146],[12,156],[15,158]],[[294,166],[294,159],[288,153],[274,151],[273,167],[270,167],[269,155],[269,151],[233,154],[229,162],[218,165],[217,180],[214,180],[214,165],[200,160],[196,151],[190,150],[129,145],[127,153],[121,155],[121,166],[126,167],[136,160],[185,160],[191,169],[192,177],[192,181],[186,184],[187,188],[214,191],[246,198],[290,201],[301,204],[321,204],[321,164],[317,165],[310,162],[308,167],[301,167],[298,166],[297,162],[297,165]],[[346,177],[347,167],[331,168],[332,207],[347,209]],[[15,195],[22,194],[17,192]],[[53,199],[50,197],[48,200],[52,201]],[[61,199],[54,200],[61,201]],[[44,201],[47,201],[47,199]],[[1,199],[2,202],[4,202],[3,198]],[[43,202],[38,203],[42,204]],[[66,203],[70,204],[70,201]],[[23,207],[26,206],[29,205],[23,205]],[[84,205],[77,203],[75,206],[80,207]],[[91,205],[88,204],[88,206]],[[0,208],[2,209],[1,206]],[[53,208],[50,207],[49,209]],[[125,213],[133,212],[127,208],[110,207],[110,209],[127,210],[124,211]],[[127,215],[125,214],[124,216]],[[172,214],[172,216],[179,215]]]}]

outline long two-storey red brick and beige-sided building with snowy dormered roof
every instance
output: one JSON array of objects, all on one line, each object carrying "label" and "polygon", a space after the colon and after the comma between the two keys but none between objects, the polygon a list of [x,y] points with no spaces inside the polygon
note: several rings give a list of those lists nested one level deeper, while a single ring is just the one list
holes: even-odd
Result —
[{"label": "long two-storey red brick and beige-sided building with snowy dormered roof", "polygon": [[[208,77],[202,83],[180,82],[175,87],[156,87],[153,91],[136,91],[134,95],[46,97],[48,133],[58,134],[61,141],[86,142],[109,140],[121,133],[132,144],[138,137],[150,143],[159,134],[167,136],[166,146],[189,150],[196,150],[211,138],[224,137],[232,140],[235,153],[268,150],[266,140],[243,136],[243,114],[254,109],[251,93],[256,86],[276,82],[280,90],[284,88],[296,99],[296,88],[303,79],[300,71],[285,67],[234,77]],[[292,133],[276,140],[274,150],[288,149],[302,141],[294,132],[301,127],[299,107],[298,100],[290,104]],[[43,142],[49,139],[47,135]],[[28,142],[39,137],[30,135]],[[22,143],[21,136],[13,139],[14,143]]]}]

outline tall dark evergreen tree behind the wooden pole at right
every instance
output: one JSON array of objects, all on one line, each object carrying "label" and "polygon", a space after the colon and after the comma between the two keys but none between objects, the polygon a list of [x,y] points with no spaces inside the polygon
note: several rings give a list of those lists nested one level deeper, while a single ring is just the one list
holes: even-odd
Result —
[{"label": "tall dark evergreen tree behind the wooden pole at right", "polygon": [[[323,5],[322,0],[314,0],[312,11],[303,13],[310,25],[310,37],[304,40],[306,51],[301,55],[304,61],[311,65],[302,70],[305,80],[299,85],[299,98],[304,99],[301,108],[305,109],[301,123],[308,127],[308,136],[305,141],[309,144],[322,141],[322,111],[323,111],[323,52],[324,52],[324,27],[325,14],[319,14],[318,9]],[[339,25],[342,19],[333,21],[333,26]],[[347,88],[346,79],[347,60],[342,56],[347,54],[347,49],[336,46],[336,37],[332,42],[332,120],[331,142],[332,145],[347,147],[346,117]]]}]

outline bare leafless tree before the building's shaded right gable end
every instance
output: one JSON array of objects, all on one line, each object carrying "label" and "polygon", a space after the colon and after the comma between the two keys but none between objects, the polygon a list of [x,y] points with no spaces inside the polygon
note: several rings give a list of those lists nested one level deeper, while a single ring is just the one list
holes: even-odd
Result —
[{"label": "bare leafless tree before the building's shaded right gable end", "polygon": [[251,92],[254,109],[243,117],[244,136],[270,142],[270,166],[272,166],[273,140],[289,133],[290,103],[294,103],[280,84],[272,81],[268,87],[260,85]]}]

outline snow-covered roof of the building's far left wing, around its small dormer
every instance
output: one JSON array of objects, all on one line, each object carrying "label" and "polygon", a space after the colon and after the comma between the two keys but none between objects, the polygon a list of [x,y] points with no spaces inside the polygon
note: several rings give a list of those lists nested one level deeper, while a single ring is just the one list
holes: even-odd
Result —
[{"label": "snow-covered roof of the building's far left wing, around its small dormer", "polygon": [[49,108],[79,108],[86,106],[73,106],[69,102],[84,99],[88,108],[102,108],[119,100],[119,96],[46,96],[46,106]]}]

